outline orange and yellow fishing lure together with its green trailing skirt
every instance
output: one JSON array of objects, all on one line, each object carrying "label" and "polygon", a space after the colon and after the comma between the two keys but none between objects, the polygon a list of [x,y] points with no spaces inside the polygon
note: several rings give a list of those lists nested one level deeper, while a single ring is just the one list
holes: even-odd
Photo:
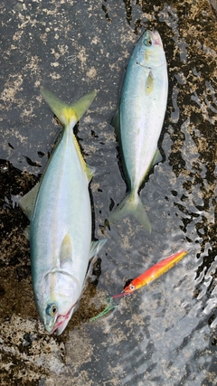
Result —
[{"label": "orange and yellow fishing lure together with its green trailing skirt", "polygon": [[180,252],[177,252],[174,255],[171,255],[168,258],[159,261],[158,263],[156,263],[155,266],[146,269],[146,271],[142,275],[139,275],[137,278],[134,278],[132,281],[130,281],[130,283],[127,284],[126,287],[124,287],[123,291],[120,294],[114,295],[113,297],[109,297],[108,306],[106,306],[106,308],[99,315],[92,317],[90,319],[90,322],[95,319],[98,319],[100,316],[108,314],[109,311],[116,308],[117,306],[113,305],[113,299],[116,299],[118,297],[126,297],[127,295],[132,294],[137,289],[145,287],[146,284],[150,283],[156,278],[159,278],[170,268],[173,268],[178,261],[180,261],[184,258],[184,256],[187,255],[187,253],[187,250],[183,249]]}]

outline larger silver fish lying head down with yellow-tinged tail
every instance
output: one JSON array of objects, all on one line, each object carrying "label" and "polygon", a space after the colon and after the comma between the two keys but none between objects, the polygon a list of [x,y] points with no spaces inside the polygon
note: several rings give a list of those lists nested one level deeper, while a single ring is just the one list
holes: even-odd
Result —
[{"label": "larger silver fish lying head down with yellow-tinged tail", "polygon": [[42,180],[19,202],[30,219],[33,292],[43,325],[61,334],[82,293],[90,258],[106,240],[91,242],[87,166],[73,127],[95,98],[95,91],[68,106],[42,88],[42,97],[63,125]]}]

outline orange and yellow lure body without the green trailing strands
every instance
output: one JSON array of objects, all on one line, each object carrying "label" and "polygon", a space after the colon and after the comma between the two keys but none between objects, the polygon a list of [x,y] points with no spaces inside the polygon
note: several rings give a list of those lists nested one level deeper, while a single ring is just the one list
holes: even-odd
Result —
[{"label": "orange and yellow lure body without the green trailing strands", "polygon": [[122,294],[129,295],[136,291],[138,288],[144,287],[146,284],[150,283],[156,278],[159,278],[159,276],[163,275],[167,270],[174,267],[174,265],[183,259],[186,254],[186,250],[181,250],[180,252],[177,252],[174,255],[159,261],[159,263],[157,263],[155,266],[148,268],[142,275],[134,278],[129,283],[129,285],[124,288]]}]

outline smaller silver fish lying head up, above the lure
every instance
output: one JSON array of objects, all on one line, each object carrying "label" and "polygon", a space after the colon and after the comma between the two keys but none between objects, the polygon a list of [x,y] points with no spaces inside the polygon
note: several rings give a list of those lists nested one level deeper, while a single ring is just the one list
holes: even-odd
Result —
[{"label": "smaller silver fish lying head up, above the lure", "polygon": [[151,231],[138,189],[159,159],[157,141],[165,118],[167,93],[163,43],[159,33],[146,31],[128,62],[118,114],[113,119],[129,192],[111,212],[111,223],[133,214],[147,231]]}]

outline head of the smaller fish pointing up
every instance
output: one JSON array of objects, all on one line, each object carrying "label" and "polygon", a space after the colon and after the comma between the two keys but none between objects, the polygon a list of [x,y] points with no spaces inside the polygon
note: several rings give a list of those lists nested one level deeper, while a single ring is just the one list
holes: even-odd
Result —
[{"label": "head of the smaller fish pointing up", "polygon": [[155,69],[165,63],[165,52],[160,34],[146,31],[137,44],[137,63],[148,69]]}]

